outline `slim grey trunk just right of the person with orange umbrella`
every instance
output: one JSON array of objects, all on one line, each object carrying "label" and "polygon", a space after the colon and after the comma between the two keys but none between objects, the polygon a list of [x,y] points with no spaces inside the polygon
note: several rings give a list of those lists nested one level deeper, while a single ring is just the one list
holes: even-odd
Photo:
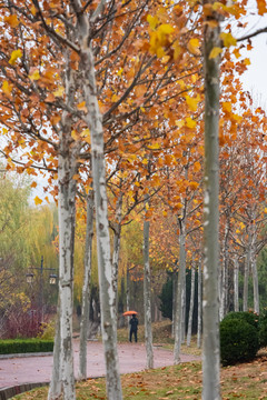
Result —
[{"label": "slim grey trunk just right of the person with orange umbrella", "polygon": [[[148,200],[146,199],[146,203]],[[147,350],[147,368],[154,368],[152,324],[151,324],[151,292],[150,292],[150,263],[149,263],[149,228],[150,222],[144,221],[144,316],[145,341]]]}]

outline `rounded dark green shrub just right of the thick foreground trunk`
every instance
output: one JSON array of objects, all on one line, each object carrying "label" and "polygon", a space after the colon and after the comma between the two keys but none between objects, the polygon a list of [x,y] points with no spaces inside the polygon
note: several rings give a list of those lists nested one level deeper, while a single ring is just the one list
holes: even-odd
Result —
[{"label": "rounded dark green shrub just right of the thick foreground trunk", "polygon": [[249,361],[259,349],[256,327],[240,318],[225,318],[220,322],[220,359],[222,366]]}]

